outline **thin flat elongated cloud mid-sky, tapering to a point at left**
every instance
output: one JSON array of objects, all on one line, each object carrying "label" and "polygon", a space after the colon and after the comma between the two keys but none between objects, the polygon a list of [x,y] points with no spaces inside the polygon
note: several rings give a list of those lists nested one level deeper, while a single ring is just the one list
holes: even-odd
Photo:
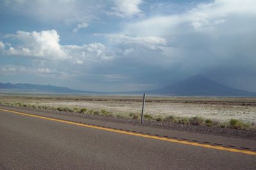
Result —
[{"label": "thin flat elongated cloud mid-sky, tapering to a point at left", "polygon": [[150,50],[159,50],[160,46],[166,46],[167,41],[164,38],[156,36],[147,36],[147,37],[133,37],[127,36],[125,34],[95,34],[102,35],[108,38],[114,43],[122,45],[140,45]]}]

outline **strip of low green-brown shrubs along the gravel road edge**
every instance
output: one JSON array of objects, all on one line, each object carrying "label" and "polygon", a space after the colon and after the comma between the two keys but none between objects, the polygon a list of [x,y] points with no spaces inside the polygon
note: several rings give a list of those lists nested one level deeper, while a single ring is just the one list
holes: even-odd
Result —
[{"label": "strip of low green-brown shrubs along the gravel road edge", "polygon": [[[116,117],[116,118],[131,118],[134,120],[140,119],[139,113],[129,113],[125,114],[114,114],[107,110],[88,110],[87,108],[70,108],[70,107],[53,107],[53,106],[42,106],[35,104],[26,103],[6,103],[1,102],[1,105],[14,106],[22,108],[31,108],[45,111],[60,111],[67,113],[80,113],[86,115],[98,115],[104,117]],[[216,120],[211,120],[209,118],[205,119],[203,117],[174,117],[169,115],[167,117],[159,117],[150,114],[144,115],[145,120],[157,121],[157,122],[170,122],[172,124],[183,124],[183,125],[201,125],[207,127],[220,127],[220,128],[231,128],[231,129],[245,129],[245,130],[256,130],[256,125],[248,122],[243,122],[237,119],[230,119],[228,122],[218,122]]]}]

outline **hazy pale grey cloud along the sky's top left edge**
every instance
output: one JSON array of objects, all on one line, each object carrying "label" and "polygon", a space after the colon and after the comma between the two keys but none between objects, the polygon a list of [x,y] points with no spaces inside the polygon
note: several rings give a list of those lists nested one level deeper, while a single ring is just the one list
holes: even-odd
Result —
[{"label": "hazy pale grey cloud along the sky's top left edge", "polygon": [[39,18],[42,21],[70,23],[84,22],[89,18],[94,18],[101,8],[98,3],[97,1],[77,0],[4,0],[3,8],[28,17]]}]

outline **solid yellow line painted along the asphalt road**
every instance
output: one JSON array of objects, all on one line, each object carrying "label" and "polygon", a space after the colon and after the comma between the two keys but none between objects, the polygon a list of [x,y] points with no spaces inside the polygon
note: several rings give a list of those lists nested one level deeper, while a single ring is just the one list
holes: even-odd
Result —
[{"label": "solid yellow line painted along the asphalt road", "polygon": [[79,125],[79,126],[83,126],[83,127],[90,127],[90,128],[93,128],[93,129],[100,129],[100,130],[103,130],[103,131],[116,132],[116,133],[121,133],[121,134],[128,134],[128,135],[132,135],[132,136],[140,136],[140,137],[143,137],[143,138],[158,139],[158,140],[161,140],[161,141],[169,141],[169,142],[172,142],[172,143],[182,143],[182,144],[185,144],[185,145],[201,146],[201,147],[204,147],[204,148],[212,148],[212,149],[216,149],[216,150],[225,150],[225,151],[229,151],[229,152],[237,152],[237,153],[245,153],[245,154],[248,154],[248,155],[256,155],[256,152],[252,152],[252,151],[248,151],[248,150],[239,150],[239,149],[235,149],[235,148],[225,148],[223,146],[213,146],[213,145],[207,145],[207,144],[201,144],[201,143],[195,143],[195,142],[189,142],[189,141],[181,141],[181,140],[177,140],[177,139],[162,138],[162,137],[158,137],[158,136],[149,136],[147,134],[137,134],[137,133],[134,133],[134,132],[119,131],[119,130],[110,129],[110,128],[106,128],[106,127],[98,127],[98,126],[95,126],[95,125],[79,124],[79,123],[70,122],[70,121],[67,121],[67,120],[58,120],[56,118],[48,118],[48,117],[42,117],[42,116],[37,116],[37,115],[31,115],[29,113],[22,113],[22,112],[19,112],[19,111],[11,111],[11,110],[3,110],[3,109],[0,109],[0,110],[8,111],[8,112],[11,112],[11,113],[16,113],[16,114],[19,114],[19,115],[29,116],[29,117],[36,117],[36,118],[42,118],[42,119],[45,119],[45,120],[52,120],[52,121],[56,121],[56,122],[62,122],[62,123],[65,123],[65,124],[72,124],[72,125]]}]

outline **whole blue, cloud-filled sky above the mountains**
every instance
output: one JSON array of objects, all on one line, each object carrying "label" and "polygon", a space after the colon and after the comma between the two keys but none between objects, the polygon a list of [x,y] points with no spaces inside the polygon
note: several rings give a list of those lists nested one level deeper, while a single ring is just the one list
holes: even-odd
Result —
[{"label": "whole blue, cloud-filled sky above the mountains", "polygon": [[0,82],[150,90],[202,74],[256,92],[255,0],[0,0]]}]

